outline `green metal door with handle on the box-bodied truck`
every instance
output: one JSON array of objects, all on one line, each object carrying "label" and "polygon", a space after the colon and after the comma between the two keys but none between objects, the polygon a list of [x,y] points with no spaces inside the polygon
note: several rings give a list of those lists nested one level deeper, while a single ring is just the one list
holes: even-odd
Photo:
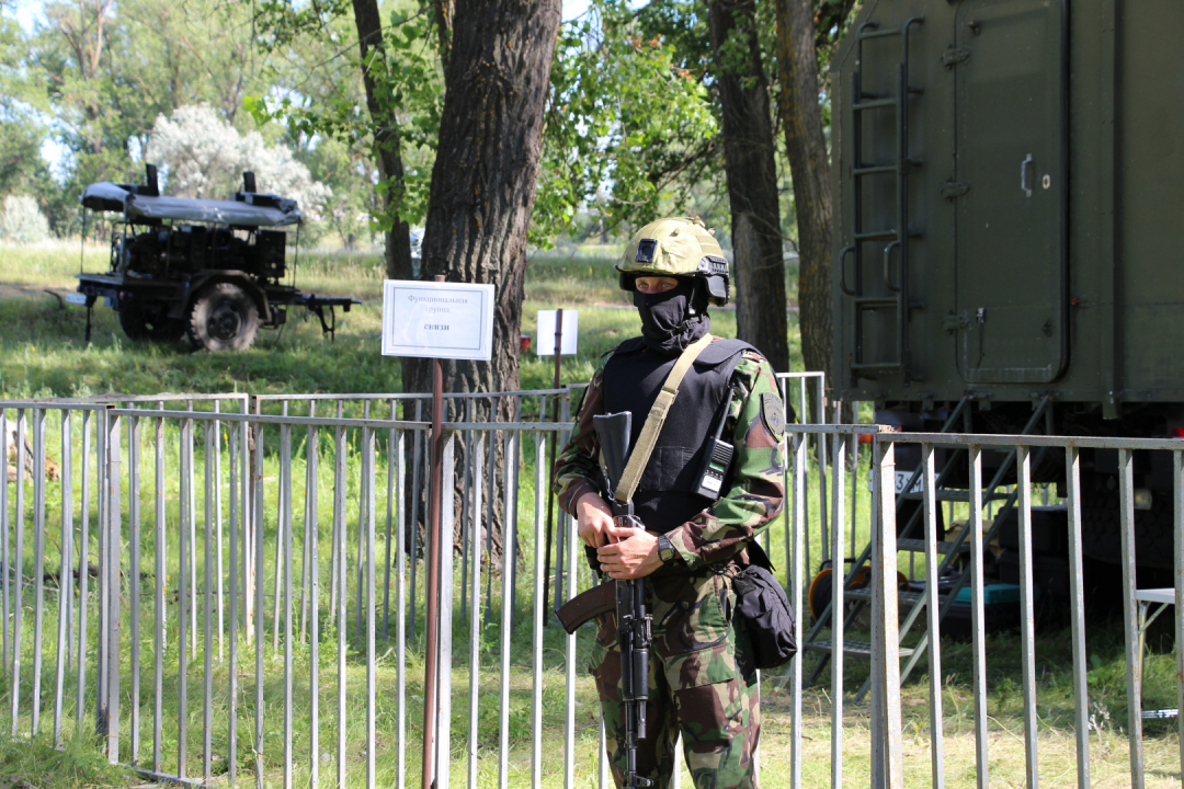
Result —
[{"label": "green metal door with handle on the box-bodied truck", "polygon": [[965,0],[954,45],[959,370],[1047,383],[1068,362],[1063,0]]}]

